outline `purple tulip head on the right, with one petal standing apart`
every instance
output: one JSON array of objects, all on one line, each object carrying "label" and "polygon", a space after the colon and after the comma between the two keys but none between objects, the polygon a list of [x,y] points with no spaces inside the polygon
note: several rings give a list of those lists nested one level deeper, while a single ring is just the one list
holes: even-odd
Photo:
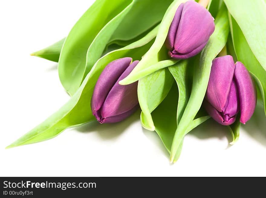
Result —
[{"label": "purple tulip head on the right, with one petal standing apart", "polygon": [[240,122],[245,124],[256,103],[257,91],[243,63],[234,63],[230,55],[215,58],[203,101],[209,115],[222,125],[231,125],[240,111]]}]

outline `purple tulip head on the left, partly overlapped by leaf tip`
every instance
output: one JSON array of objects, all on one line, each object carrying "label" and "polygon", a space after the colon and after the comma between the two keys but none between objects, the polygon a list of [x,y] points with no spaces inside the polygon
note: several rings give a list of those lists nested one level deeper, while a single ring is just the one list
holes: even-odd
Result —
[{"label": "purple tulip head on the left, partly overlapped by leaf tip", "polygon": [[125,57],[112,61],[102,71],[96,82],[92,99],[92,114],[98,122],[120,122],[138,109],[138,82],[119,85],[138,64],[131,63],[132,58]]}]

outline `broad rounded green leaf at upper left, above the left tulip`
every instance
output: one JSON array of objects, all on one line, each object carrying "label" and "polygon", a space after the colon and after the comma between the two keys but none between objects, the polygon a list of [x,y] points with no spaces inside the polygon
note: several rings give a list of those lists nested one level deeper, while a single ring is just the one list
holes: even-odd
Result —
[{"label": "broad rounded green leaf at upper left, above the left tulip", "polygon": [[[101,56],[113,32],[131,9],[132,1],[134,0],[96,0],[66,37],[59,58],[58,73],[70,96],[73,96],[81,85],[86,76],[85,71],[89,71]],[[95,49],[96,44],[99,49]],[[90,68],[86,68],[89,46],[95,49],[95,61]]]}]

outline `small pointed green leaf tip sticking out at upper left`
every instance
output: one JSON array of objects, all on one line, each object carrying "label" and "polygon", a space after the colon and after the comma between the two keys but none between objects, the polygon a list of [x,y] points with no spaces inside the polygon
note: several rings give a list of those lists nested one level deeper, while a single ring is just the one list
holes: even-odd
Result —
[{"label": "small pointed green leaf tip sticking out at upper left", "polygon": [[60,41],[57,41],[56,43],[42,49],[39,50],[37,52],[33,52],[31,53],[31,56],[37,56],[40,58],[44,58],[47,60],[51,60],[54,62],[58,62],[59,60],[59,56],[60,56],[60,52],[61,49],[63,47],[63,43],[65,41],[66,38],[61,39]]}]

